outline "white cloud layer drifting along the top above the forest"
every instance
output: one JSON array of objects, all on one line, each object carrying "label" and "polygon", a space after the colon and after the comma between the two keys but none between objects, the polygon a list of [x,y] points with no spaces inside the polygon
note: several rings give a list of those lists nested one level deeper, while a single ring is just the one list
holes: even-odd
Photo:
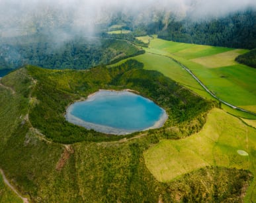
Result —
[{"label": "white cloud layer drifting along the top above the forest", "polygon": [[[165,12],[180,18],[190,13],[200,17],[222,17],[234,11],[256,9],[255,0],[0,0],[0,36],[10,30],[31,28],[34,23],[62,24],[93,31],[92,24],[104,22],[116,11],[151,20],[153,12]],[[168,16],[168,15],[167,15]],[[35,20],[36,19],[36,20]],[[54,22],[56,20],[57,22]],[[45,22],[44,22],[45,21]],[[2,30],[1,30],[2,29]],[[13,31],[12,31],[13,32]]]}]

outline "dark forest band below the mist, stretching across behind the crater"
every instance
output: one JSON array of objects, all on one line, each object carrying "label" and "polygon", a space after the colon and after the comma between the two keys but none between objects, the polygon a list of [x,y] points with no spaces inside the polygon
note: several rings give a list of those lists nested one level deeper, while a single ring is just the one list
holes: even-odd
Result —
[{"label": "dark forest band below the mist, stretching across behind the crater", "polygon": [[[109,34],[109,30],[125,29],[129,33]],[[54,30],[53,30],[54,32]],[[71,33],[70,33],[71,34]],[[49,69],[87,69],[101,64],[143,54],[140,47],[148,44],[136,36],[158,34],[159,38],[175,42],[208,44],[230,48],[256,47],[256,11],[247,10],[218,19],[194,20],[165,19],[164,13],[157,20],[139,21],[136,16],[120,13],[108,24],[101,24],[93,37],[70,35],[52,37],[40,32],[35,34],[0,38],[0,70],[15,69],[31,64]],[[244,58],[237,61],[253,66],[253,55],[247,64]]]}]

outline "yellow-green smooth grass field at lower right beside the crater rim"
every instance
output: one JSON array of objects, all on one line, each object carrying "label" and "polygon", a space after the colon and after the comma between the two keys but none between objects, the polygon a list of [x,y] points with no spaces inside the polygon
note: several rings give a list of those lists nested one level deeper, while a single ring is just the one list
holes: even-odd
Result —
[{"label": "yellow-green smooth grass field at lower right beside the crater rim", "polygon": [[[255,135],[256,130],[238,118],[214,109],[201,132],[183,140],[161,140],[144,152],[144,157],[149,171],[163,182],[207,165],[249,169],[256,176]],[[249,156],[241,156],[237,150],[244,150]],[[256,200],[253,185],[246,200]]]}]

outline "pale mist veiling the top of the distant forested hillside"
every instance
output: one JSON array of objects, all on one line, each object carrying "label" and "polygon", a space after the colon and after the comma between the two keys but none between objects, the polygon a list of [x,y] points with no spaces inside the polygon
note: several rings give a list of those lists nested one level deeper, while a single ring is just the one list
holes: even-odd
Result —
[{"label": "pale mist veiling the top of the distant forested hillside", "polygon": [[[111,24],[113,19],[132,22],[132,26],[183,20],[186,17],[210,20],[225,17],[248,8],[256,2],[206,0],[143,0],[143,1],[7,1],[0,2],[0,36],[31,33],[93,34],[99,24]],[[62,34],[63,35],[63,34]],[[53,36],[55,37],[55,36]],[[58,34],[56,34],[58,38]]]}]

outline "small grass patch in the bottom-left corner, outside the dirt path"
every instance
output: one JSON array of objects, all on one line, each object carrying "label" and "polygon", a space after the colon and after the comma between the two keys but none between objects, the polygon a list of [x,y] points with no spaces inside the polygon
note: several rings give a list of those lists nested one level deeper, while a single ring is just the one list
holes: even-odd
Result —
[{"label": "small grass patch in the bottom-left corner, outside the dirt path", "polygon": [[15,194],[4,182],[0,173],[0,202],[1,203],[22,203],[21,198]]}]

